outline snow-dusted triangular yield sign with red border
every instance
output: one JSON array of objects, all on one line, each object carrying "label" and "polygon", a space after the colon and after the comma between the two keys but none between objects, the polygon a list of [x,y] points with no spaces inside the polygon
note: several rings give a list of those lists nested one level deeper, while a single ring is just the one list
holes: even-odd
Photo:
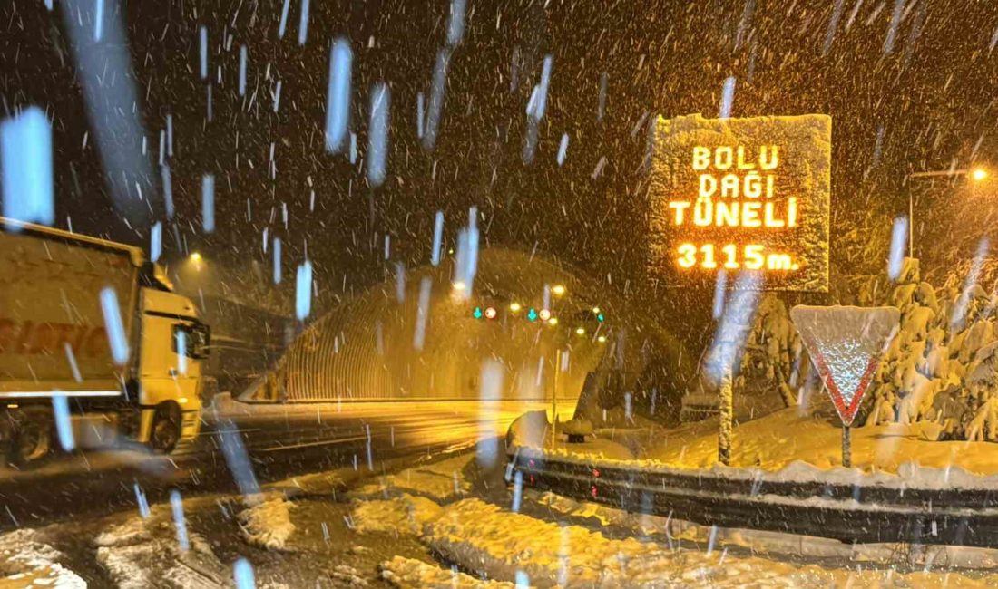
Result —
[{"label": "snow-dusted triangular yield sign with red border", "polygon": [[790,309],[790,319],[828,389],[843,426],[852,424],[880,357],[897,333],[894,307],[809,307]]}]

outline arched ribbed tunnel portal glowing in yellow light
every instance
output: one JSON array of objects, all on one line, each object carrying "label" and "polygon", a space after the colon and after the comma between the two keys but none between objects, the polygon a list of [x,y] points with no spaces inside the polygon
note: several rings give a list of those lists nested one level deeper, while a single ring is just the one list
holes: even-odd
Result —
[{"label": "arched ribbed tunnel portal glowing in yellow light", "polygon": [[[656,350],[667,350],[665,362],[675,361],[677,368],[682,360],[674,338],[623,313],[603,285],[564,264],[485,248],[470,293],[452,280],[453,261],[445,260],[406,271],[401,288],[392,279],[342,302],[299,334],[250,398],[308,403],[557,397],[574,404],[587,377],[601,367],[633,367],[637,360],[636,372],[647,372],[662,356]],[[557,294],[557,285],[564,294]],[[544,308],[546,286],[557,321],[531,321],[530,310]],[[475,316],[476,308],[482,317]],[[496,311],[494,319],[484,316],[489,308]],[[488,363],[500,370],[483,373]],[[490,382],[482,382],[483,374]],[[631,379],[632,385],[639,380]],[[602,407],[614,405],[607,401],[603,395]]]}]

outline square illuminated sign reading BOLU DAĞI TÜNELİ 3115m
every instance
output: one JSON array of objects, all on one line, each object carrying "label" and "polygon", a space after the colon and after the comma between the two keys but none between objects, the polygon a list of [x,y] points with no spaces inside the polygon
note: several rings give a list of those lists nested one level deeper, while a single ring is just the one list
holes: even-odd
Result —
[{"label": "square illuminated sign reading BOLU DA\u011eI T\u00dcNEL\u0130 3115m", "polygon": [[774,290],[826,291],[831,120],[660,119],[653,263],[672,285],[757,270]]}]

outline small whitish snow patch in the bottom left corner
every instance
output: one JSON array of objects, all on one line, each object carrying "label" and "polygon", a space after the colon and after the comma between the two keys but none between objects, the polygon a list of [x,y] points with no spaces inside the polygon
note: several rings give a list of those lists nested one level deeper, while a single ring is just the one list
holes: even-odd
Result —
[{"label": "small whitish snow patch in the bottom left corner", "polygon": [[40,541],[35,530],[0,535],[0,587],[85,588],[86,581],[59,564],[63,558],[61,552]]}]

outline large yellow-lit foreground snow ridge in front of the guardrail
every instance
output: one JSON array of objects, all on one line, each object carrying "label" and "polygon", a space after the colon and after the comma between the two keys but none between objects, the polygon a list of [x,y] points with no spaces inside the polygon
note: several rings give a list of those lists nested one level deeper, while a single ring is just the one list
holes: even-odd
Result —
[{"label": "large yellow-lit foreground snow ridge in front of the guardrail", "polygon": [[[707,550],[672,549],[634,538],[609,539],[575,525],[559,525],[505,511],[479,499],[447,506],[426,525],[423,540],[462,568],[497,579],[526,574],[539,587],[991,587],[998,576],[965,577],[894,569],[796,567],[741,557],[708,542]],[[941,566],[936,561],[935,566]]]}]

